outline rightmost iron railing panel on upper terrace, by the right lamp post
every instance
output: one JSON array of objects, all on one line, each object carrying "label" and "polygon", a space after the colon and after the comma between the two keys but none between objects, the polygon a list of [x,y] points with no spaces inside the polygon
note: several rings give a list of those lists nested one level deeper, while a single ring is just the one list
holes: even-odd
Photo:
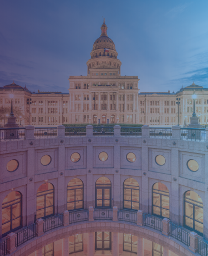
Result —
[{"label": "rightmost iron railing panel on upper terrace, by the right lamp post", "polygon": [[181,128],[181,140],[190,141],[205,141],[206,129],[205,128]]}]

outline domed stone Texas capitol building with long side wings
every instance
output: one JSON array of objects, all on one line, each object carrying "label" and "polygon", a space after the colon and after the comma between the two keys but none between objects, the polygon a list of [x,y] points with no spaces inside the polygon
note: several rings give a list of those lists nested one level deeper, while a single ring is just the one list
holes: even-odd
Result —
[{"label": "domed stone Texas capitol building with long side wings", "polygon": [[[87,76],[70,76],[69,93],[31,92],[13,82],[0,87],[0,107],[11,105],[9,94],[13,93],[14,106],[21,107],[24,113],[17,120],[22,125],[28,125],[30,112],[30,124],[34,126],[99,122],[172,126],[177,125],[179,99],[179,125],[190,123],[195,92],[196,114],[201,124],[207,124],[208,88],[193,82],[176,93],[139,92],[138,76],[121,76],[121,61],[107,29],[104,21],[87,61]],[[27,99],[31,99],[30,111]]]}]

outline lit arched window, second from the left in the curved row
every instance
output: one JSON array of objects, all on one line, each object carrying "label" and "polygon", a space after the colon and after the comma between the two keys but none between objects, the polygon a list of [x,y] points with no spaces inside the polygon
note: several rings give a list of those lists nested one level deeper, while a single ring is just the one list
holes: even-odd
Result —
[{"label": "lit arched window, second from the left in the curved row", "polygon": [[54,188],[51,183],[44,183],[37,191],[36,219],[54,215]]}]

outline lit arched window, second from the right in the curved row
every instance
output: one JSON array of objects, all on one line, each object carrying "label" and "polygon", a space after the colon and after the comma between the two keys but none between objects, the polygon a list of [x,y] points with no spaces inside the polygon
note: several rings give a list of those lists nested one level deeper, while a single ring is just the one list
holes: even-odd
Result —
[{"label": "lit arched window, second from the right in the curved row", "polygon": [[169,218],[169,190],[163,183],[153,185],[153,209],[154,215]]}]

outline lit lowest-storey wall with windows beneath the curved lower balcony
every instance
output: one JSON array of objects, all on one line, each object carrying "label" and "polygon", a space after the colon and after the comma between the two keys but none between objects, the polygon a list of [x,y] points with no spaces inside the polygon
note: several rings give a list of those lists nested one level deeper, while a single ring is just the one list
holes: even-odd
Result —
[{"label": "lit lowest-storey wall with windows beneath the curved lower balcony", "polygon": [[[91,236],[89,236],[91,234]],[[118,244],[113,241],[113,234],[117,234]],[[92,240],[90,240],[92,239]],[[138,243],[143,245],[142,252],[138,251]],[[141,244],[142,242],[142,244]],[[64,244],[65,243],[65,244]],[[92,245],[94,248],[92,249]],[[114,248],[118,248],[118,250]],[[63,249],[63,248],[67,248]],[[89,249],[91,251],[89,253]],[[87,256],[105,255],[105,256],[135,256],[139,252],[142,256],[177,256],[177,254],[169,250],[164,253],[164,248],[147,239],[138,238],[135,235],[112,233],[111,232],[95,232],[72,235],[68,239],[60,239],[54,243],[50,243],[30,254],[29,256]]]}]

